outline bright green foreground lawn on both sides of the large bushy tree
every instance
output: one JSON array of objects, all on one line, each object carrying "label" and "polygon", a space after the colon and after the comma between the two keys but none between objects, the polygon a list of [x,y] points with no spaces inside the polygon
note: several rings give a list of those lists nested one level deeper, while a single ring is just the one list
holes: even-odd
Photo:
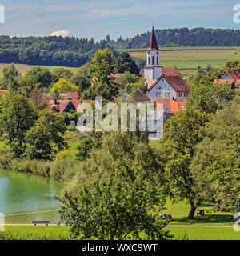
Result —
[{"label": "bright green foreground lawn on both sides of the large bushy tree", "polygon": [[[186,202],[173,204],[170,200],[166,202],[166,210],[162,213],[170,213],[173,221],[166,227],[174,239],[187,240],[239,240],[240,232],[234,231],[232,213],[215,213],[208,216],[198,217],[188,221],[189,205]],[[209,209],[203,206],[201,209]],[[26,234],[33,237],[45,236],[50,238],[67,238],[68,228],[66,226],[6,226],[6,233],[24,239]]]}]

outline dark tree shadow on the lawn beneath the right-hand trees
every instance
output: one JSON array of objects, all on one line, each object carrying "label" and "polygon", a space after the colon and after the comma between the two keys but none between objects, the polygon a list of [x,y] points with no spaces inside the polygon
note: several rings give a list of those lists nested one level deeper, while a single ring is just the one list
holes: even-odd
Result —
[{"label": "dark tree shadow on the lawn beneath the right-hand trees", "polygon": [[173,222],[178,224],[232,224],[234,223],[233,214],[211,214],[195,217],[194,219],[175,218]]}]

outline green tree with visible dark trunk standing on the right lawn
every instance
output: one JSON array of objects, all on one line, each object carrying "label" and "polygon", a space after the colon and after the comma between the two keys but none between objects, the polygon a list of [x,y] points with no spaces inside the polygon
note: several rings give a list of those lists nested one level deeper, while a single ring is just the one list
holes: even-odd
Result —
[{"label": "green tree with visible dark trunk standing on the right lawn", "polygon": [[208,114],[186,110],[174,114],[164,126],[161,154],[166,166],[166,178],[172,194],[190,202],[188,218],[194,218],[194,212],[202,202],[201,192],[195,190],[190,166],[195,146],[204,138],[208,121]]}]

